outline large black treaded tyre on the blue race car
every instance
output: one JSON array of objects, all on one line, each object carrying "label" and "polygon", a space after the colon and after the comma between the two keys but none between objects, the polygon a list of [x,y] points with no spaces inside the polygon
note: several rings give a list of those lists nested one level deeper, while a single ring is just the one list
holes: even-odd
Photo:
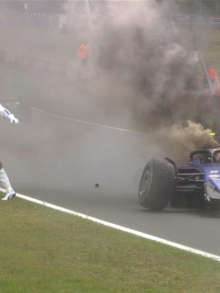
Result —
[{"label": "large black treaded tyre on the blue race car", "polygon": [[174,194],[175,184],[174,165],[166,160],[151,159],[141,176],[139,204],[147,209],[164,209]]}]

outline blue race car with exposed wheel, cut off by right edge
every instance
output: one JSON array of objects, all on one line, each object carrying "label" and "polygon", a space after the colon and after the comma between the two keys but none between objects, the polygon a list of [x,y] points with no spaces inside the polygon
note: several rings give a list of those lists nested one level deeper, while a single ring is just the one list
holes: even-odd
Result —
[{"label": "blue race car with exposed wheel, cut off by right edge", "polygon": [[151,159],[145,166],[138,200],[147,209],[162,210],[184,198],[189,207],[220,206],[220,149],[199,149],[188,163]]}]

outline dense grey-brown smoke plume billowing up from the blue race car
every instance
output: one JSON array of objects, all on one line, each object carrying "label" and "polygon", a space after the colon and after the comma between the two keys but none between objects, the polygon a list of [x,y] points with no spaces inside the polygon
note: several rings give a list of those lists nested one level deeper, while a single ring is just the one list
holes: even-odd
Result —
[{"label": "dense grey-brown smoke plume billowing up from the blue race car", "polygon": [[134,126],[161,137],[167,149],[176,146],[182,157],[215,142],[210,129],[195,123],[208,97],[198,92],[192,36],[171,25],[166,12],[151,1],[110,1],[91,39],[98,65],[109,71],[103,90],[110,89],[114,106],[132,112]]}]

